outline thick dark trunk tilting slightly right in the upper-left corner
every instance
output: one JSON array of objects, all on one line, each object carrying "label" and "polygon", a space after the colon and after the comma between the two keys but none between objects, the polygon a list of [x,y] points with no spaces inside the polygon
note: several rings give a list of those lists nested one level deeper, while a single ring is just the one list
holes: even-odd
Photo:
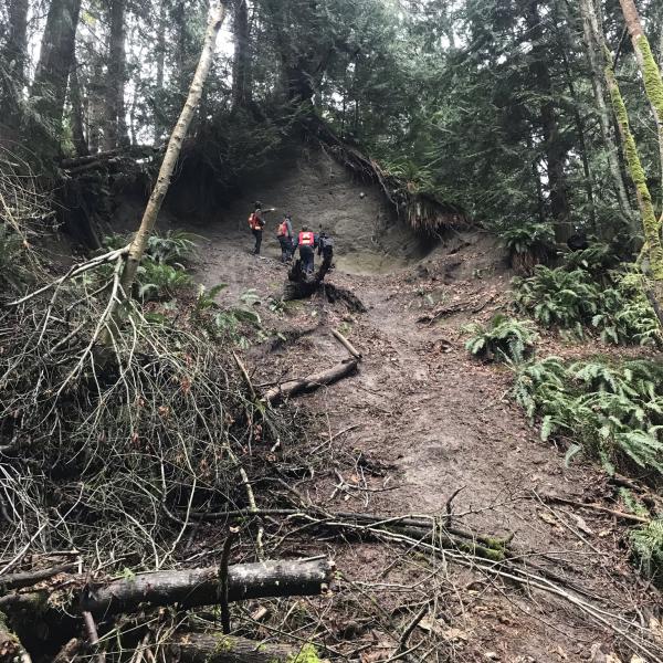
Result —
[{"label": "thick dark trunk tilting slightly right in the upper-left corner", "polygon": [[42,120],[52,125],[48,131],[45,151],[54,156],[60,150],[62,113],[66,84],[74,62],[74,46],[81,0],[52,0],[31,97]]}]

